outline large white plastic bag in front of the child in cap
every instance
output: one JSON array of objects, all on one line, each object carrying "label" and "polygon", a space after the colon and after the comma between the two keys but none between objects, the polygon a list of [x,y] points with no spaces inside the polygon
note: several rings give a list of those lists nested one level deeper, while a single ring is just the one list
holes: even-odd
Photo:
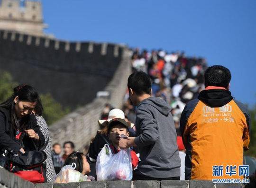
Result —
[{"label": "large white plastic bag in front of the child in cap", "polygon": [[130,149],[122,149],[116,154],[105,144],[96,161],[97,180],[131,180],[132,163]]}]

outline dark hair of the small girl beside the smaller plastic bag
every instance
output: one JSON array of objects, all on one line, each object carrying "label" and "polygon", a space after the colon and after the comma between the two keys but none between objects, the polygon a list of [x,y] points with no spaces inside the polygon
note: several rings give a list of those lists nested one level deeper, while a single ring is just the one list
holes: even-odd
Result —
[{"label": "dark hair of the small girl beside the smaller plastic bag", "polygon": [[74,170],[79,171],[80,173],[82,173],[83,170],[83,159],[82,159],[82,153],[80,152],[73,152],[71,153],[67,159],[64,162],[64,166],[65,165],[72,165],[72,163],[74,162],[76,164],[76,167]]}]

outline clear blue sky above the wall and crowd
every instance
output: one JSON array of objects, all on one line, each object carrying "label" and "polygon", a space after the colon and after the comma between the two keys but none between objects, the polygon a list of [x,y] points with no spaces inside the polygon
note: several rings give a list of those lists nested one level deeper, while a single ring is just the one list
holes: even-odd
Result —
[{"label": "clear blue sky above the wall and crowd", "polygon": [[42,0],[47,33],[201,56],[232,74],[232,95],[256,104],[256,0]]}]

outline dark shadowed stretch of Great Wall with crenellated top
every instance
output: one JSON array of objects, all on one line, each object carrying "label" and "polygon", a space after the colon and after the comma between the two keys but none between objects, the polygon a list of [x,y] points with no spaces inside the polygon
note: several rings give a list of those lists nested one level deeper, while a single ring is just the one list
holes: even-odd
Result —
[{"label": "dark shadowed stretch of Great Wall with crenellated top", "polygon": [[[128,48],[0,30],[0,70],[75,109],[104,90]],[[32,78],[32,79],[31,79]],[[83,96],[83,97],[81,97]]]}]

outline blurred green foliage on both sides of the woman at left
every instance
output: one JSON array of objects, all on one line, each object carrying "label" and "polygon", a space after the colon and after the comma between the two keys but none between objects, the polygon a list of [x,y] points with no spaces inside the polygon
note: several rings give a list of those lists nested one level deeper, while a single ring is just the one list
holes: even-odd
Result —
[{"label": "blurred green foliage on both sides of the woman at left", "polygon": [[[9,72],[0,71],[0,103],[4,102],[13,93],[13,88],[18,85],[13,81]],[[51,94],[40,94],[42,104],[44,107],[43,117],[48,125],[70,112],[69,108],[63,108],[61,104],[57,103]]]}]

